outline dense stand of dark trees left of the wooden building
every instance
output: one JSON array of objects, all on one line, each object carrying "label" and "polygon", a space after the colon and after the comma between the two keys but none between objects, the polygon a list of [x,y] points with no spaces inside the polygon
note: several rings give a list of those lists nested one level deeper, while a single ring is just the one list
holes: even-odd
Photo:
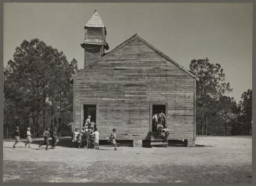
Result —
[{"label": "dense stand of dark trees left of the wooden building", "polygon": [[59,132],[73,121],[73,86],[68,78],[78,72],[77,61],[39,39],[23,41],[4,68],[4,131],[30,126],[35,136],[47,126]]}]

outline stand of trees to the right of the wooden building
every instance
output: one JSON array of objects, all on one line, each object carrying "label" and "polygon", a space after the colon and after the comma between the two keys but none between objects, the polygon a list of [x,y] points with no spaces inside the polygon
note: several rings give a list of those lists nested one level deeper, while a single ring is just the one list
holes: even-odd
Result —
[{"label": "stand of trees to the right of the wooden building", "polygon": [[252,90],[241,95],[241,101],[226,96],[233,91],[225,82],[220,64],[209,59],[192,60],[190,72],[196,82],[197,135],[252,135]]}]

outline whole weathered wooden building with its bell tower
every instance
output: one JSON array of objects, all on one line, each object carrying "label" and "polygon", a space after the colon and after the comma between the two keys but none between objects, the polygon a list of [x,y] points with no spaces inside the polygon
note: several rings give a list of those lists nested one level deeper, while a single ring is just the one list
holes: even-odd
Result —
[{"label": "whole weathered wooden building with its bell tower", "polygon": [[137,34],[105,53],[107,31],[96,10],[84,29],[84,69],[70,78],[73,130],[90,115],[100,140],[116,128],[118,140],[138,147],[157,135],[153,114],[163,110],[168,139],[195,146],[196,77]]}]

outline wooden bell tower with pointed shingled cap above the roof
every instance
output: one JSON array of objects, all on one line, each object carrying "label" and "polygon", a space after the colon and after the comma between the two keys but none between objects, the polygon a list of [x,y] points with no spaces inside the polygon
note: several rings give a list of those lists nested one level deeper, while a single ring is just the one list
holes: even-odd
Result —
[{"label": "wooden bell tower with pointed shingled cap above the roof", "polygon": [[108,50],[106,42],[106,27],[100,18],[97,10],[94,11],[91,19],[86,23],[85,38],[80,45],[84,48],[84,68],[93,61],[99,59]]}]

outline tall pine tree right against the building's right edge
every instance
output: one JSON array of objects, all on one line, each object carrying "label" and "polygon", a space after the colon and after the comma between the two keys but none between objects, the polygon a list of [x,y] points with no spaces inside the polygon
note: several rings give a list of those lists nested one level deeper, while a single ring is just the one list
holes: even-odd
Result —
[{"label": "tall pine tree right against the building's right edge", "polygon": [[[206,117],[212,112],[212,104],[225,93],[231,92],[229,83],[225,83],[225,74],[220,64],[212,64],[209,59],[192,60],[190,72],[199,80],[196,82],[196,105],[198,134],[204,134]],[[205,117],[206,116],[206,117]],[[205,127],[206,128],[206,127]]]}]

